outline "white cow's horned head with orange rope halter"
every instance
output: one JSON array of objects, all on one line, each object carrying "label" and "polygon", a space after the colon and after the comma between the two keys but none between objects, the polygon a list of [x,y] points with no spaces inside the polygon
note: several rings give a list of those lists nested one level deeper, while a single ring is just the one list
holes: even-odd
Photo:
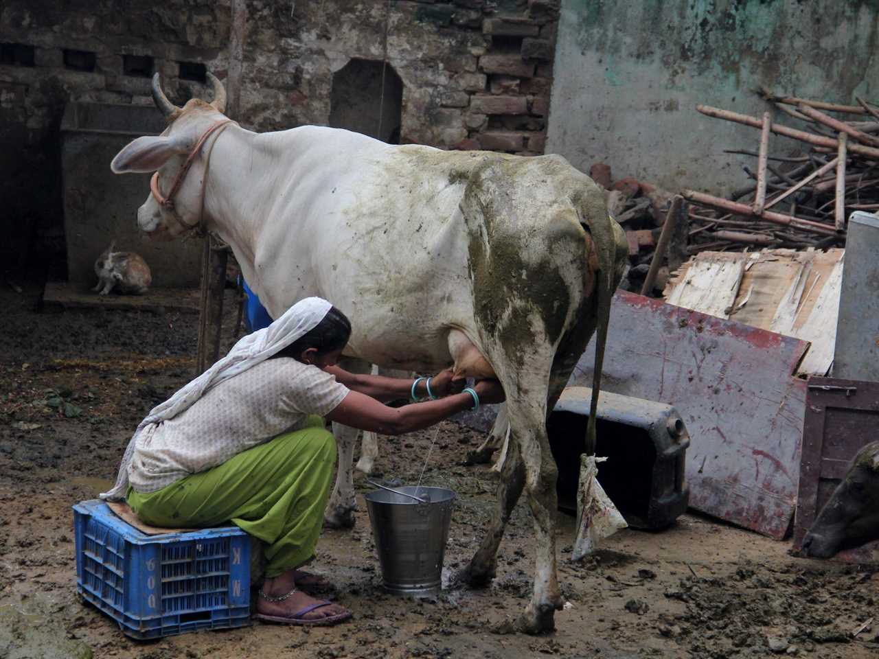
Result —
[{"label": "white cow's horned head with orange rope halter", "polygon": [[[178,107],[165,97],[159,84],[159,75],[153,76],[153,100],[168,120],[168,127],[161,135],[139,137],[123,148],[110,163],[116,174],[128,172],[158,172],[156,179],[159,196],[169,195],[178,173],[187,157],[199,144],[200,137],[225,119],[226,90],[211,73],[207,79],[214,87],[214,100],[207,103],[193,98]],[[204,163],[195,158],[187,174],[173,194],[173,207],[163,206],[150,192],[143,205],[137,209],[137,224],[147,235],[156,240],[172,240],[198,225],[201,213],[201,181]]]}]

